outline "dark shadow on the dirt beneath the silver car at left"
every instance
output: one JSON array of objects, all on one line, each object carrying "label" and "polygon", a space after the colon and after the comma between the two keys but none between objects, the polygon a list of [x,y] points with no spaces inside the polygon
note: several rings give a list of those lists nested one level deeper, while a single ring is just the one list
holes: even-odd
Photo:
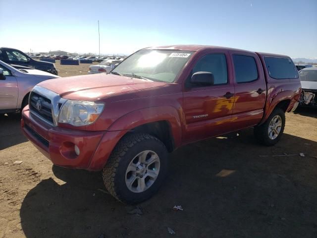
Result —
[{"label": "dark shadow on the dirt beneath the silver car at left", "polygon": [[0,150],[28,141],[23,135],[19,113],[0,114]]}]

